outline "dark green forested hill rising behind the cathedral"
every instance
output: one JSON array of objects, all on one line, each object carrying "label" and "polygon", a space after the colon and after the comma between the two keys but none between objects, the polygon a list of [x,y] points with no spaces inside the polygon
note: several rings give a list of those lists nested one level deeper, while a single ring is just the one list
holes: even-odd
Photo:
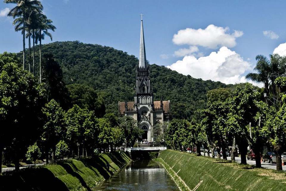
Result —
[{"label": "dark green forested hill rising behind the cathedral", "polygon": [[[42,49],[43,54],[53,54],[61,65],[66,84],[93,87],[104,99],[106,113],[117,112],[118,101],[133,100],[138,63],[135,56],[112,47],[79,41],[53,42],[44,44]],[[38,46],[35,50],[35,70],[38,71]],[[184,76],[156,64],[151,65],[151,81],[155,100],[160,100],[161,96],[171,100],[172,115],[177,118],[189,118],[195,110],[205,107],[208,90],[226,87],[221,82]]]}]

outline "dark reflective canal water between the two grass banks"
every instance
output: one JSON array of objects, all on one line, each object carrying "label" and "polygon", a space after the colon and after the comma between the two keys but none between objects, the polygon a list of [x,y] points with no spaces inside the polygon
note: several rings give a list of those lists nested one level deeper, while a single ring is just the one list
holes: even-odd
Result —
[{"label": "dark reflective canal water between the two grass banks", "polygon": [[161,164],[152,160],[133,161],[94,191],[178,191]]}]

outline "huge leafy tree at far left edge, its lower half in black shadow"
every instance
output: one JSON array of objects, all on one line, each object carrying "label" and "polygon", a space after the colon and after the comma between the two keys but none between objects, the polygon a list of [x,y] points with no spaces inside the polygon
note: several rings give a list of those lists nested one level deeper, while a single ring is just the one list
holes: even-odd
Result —
[{"label": "huge leafy tree at far left edge, its lower half in black shadow", "polygon": [[18,63],[15,54],[0,54],[0,123],[6,127],[0,133],[0,155],[5,145],[13,146],[16,171],[20,151],[24,154],[38,136],[45,94],[32,74],[20,69]]}]

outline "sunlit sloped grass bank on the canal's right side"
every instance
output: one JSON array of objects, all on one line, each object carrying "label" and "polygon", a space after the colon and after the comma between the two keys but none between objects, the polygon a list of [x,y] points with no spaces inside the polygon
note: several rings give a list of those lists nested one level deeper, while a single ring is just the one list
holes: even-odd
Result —
[{"label": "sunlit sloped grass bank on the canal's right side", "polygon": [[161,152],[163,164],[181,190],[286,190],[286,173],[226,163],[209,157],[174,150]]}]

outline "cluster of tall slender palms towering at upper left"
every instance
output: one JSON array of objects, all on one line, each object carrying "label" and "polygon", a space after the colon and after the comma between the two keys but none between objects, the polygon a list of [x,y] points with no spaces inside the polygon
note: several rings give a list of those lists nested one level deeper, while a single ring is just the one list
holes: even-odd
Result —
[{"label": "cluster of tall slender palms towering at upper left", "polygon": [[[52,20],[43,14],[43,5],[39,0],[4,0],[4,3],[17,4],[10,10],[8,16],[15,19],[13,25],[15,31],[21,31],[23,35],[23,69],[25,69],[25,38],[29,40],[29,72],[35,75],[35,44],[39,48],[39,75],[40,83],[42,82],[42,40],[49,36],[52,40],[52,34],[49,30],[55,31],[56,27]],[[31,38],[33,41],[33,53],[31,53]],[[32,68],[31,68],[32,65]]]}]

